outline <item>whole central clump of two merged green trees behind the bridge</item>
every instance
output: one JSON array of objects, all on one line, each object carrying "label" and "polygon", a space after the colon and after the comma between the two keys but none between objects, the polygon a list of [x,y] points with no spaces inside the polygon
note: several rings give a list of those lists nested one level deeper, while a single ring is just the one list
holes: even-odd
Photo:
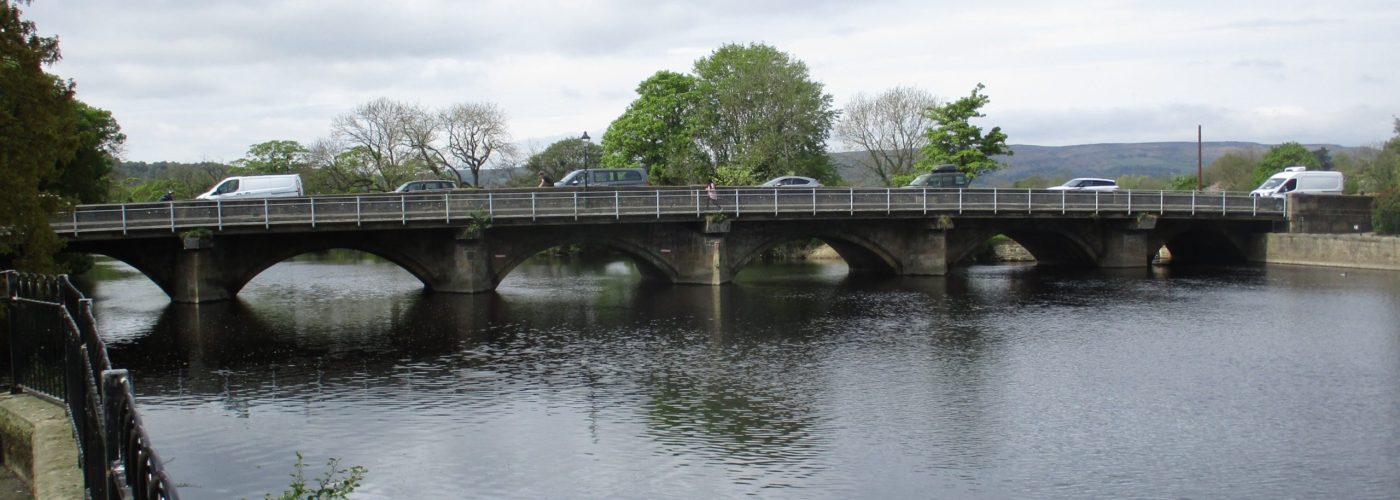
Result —
[{"label": "whole central clump of two merged green trees behind the bridge", "polygon": [[724,45],[696,60],[693,76],[661,71],[603,136],[609,165],[645,167],[657,183],[743,178],[839,176],[826,155],[832,97],[806,64],[762,43]]}]

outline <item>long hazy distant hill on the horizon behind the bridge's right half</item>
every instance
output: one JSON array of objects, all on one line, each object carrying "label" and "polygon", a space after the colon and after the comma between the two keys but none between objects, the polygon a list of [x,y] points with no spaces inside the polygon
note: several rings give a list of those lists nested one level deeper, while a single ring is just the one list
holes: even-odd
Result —
[{"label": "long hazy distant hill on the horizon behind the bridge's right half", "polygon": [[[1231,151],[1254,151],[1263,155],[1274,144],[1259,143],[1203,143],[1201,161],[1210,167],[1215,158]],[[1309,150],[1326,147],[1334,157],[1340,153],[1357,154],[1361,147],[1336,144],[1303,144]],[[1170,178],[1196,175],[1196,143],[1120,143],[1082,146],[1029,146],[1011,144],[1012,155],[997,157],[1009,164],[997,172],[979,176],[974,186],[1009,186],[1012,182],[1039,175],[1043,179],[1068,179],[1075,176],[1102,176],[1116,179],[1123,175],[1145,175]],[[832,154],[837,171],[855,186],[879,185],[878,178],[860,168],[857,161],[864,153],[848,151]]]}]

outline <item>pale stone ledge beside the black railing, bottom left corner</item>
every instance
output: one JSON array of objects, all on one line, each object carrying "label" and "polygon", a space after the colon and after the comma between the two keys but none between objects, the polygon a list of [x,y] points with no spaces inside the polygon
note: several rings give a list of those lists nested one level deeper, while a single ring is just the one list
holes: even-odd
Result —
[{"label": "pale stone ledge beside the black railing, bottom left corner", "polygon": [[62,405],[0,394],[0,461],[35,499],[84,497],[73,422]]}]

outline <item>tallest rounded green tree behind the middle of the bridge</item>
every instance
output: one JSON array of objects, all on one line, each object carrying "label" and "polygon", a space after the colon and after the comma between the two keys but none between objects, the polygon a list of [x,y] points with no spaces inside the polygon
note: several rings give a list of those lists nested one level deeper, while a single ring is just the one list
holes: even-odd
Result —
[{"label": "tallest rounded green tree behind the middle of the bridge", "polygon": [[697,132],[713,165],[837,181],[826,155],[836,111],[805,63],[769,45],[731,43],[696,60],[694,74]]}]

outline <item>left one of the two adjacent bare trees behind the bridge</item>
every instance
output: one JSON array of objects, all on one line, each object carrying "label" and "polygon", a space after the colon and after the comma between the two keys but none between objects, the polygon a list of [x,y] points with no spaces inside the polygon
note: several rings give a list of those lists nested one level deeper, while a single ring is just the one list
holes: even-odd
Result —
[{"label": "left one of the two adjacent bare trees behind the bridge", "polygon": [[350,150],[358,150],[375,172],[379,189],[389,190],[414,176],[409,140],[413,112],[403,102],[378,98],[337,116],[330,125],[332,134]]}]

